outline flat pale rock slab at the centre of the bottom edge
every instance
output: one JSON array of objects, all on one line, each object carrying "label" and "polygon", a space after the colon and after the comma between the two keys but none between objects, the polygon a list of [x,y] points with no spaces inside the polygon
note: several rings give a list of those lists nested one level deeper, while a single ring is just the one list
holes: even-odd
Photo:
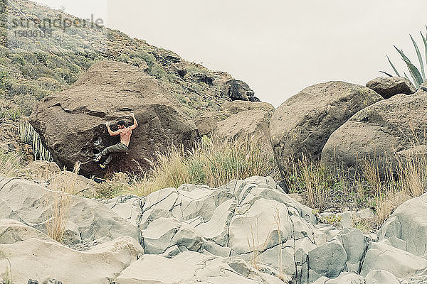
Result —
[{"label": "flat pale rock slab at the centre of the bottom edge", "polygon": [[256,271],[241,258],[220,258],[191,251],[179,253],[172,259],[146,254],[127,267],[115,282],[117,284],[283,283],[278,277]]}]

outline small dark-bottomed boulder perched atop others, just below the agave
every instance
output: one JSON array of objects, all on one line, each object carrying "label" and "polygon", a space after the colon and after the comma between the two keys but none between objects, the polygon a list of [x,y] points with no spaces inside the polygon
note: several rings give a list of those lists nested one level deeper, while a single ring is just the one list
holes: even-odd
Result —
[{"label": "small dark-bottomed boulder perched atop others, just below the agave", "polygon": [[416,88],[405,77],[378,77],[367,82],[367,87],[373,89],[384,99],[390,99],[396,94],[413,94]]}]

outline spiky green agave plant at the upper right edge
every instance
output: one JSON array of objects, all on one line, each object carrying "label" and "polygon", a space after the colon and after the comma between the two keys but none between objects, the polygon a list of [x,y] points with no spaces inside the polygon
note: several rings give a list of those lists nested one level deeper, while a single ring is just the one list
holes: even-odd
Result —
[{"label": "spiky green agave plant at the upper right edge", "polygon": [[[427,25],[426,25],[426,30],[427,30]],[[413,39],[412,35],[411,34],[409,35],[409,37],[411,37],[413,47],[415,48],[416,55],[418,57],[418,62],[420,63],[420,69],[418,69],[418,67],[416,67],[411,62],[411,60],[405,55],[404,50],[396,48],[396,45],[394,45],[394,48],[396,48],[399,55],[401,55],[402,60],[404,60],[404,62],[406,63],[406,67],[408,67],[409,74],[412,77],[412,83],[417,89],[419,89],[421,87],[421,84],[423,84],[423,82],[426,81],[426,70],[424,69],[424,64],[426,64],[426,66],[427,66],[427,40],[426,40],[427,35],[425,36],[422,31],[420,31],[420,33],[421,33],[421,38],[423,39],[426,63],[424,63],[424,61],[423,61],[423,56],[421,55],[420,49],[418,48],[418,44]],[[391,65],[391,67],[393,68],[394,72],[396,73],[396,75],[401,77],[401,75],[397,71],[396,67],[394,66],[393,62],[391,62],[389,56],[386,55],[386,57],[387,57],[387,60],[389,60],[389,63]],[[388,76],[393,76],[393,75],[390,75],[389,73],[384,72],[384,71],[380,71],[380,72],[382,72]],[[406,77],[408,80],[410,80],[408,75],[406,75],[406,72],[404,72],[404,77]]]}]

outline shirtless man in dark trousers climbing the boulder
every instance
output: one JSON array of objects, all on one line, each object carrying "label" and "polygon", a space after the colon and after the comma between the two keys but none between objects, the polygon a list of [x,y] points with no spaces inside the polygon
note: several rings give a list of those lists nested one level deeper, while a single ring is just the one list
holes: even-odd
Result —
[{"label": "shirtless man in dark trousers climbing the boulder", "polygon": [[95,162],[99,163],[102,157],[107,155],[107,158],[105,159],[104,163],[100,164],[100,168],[105,169],[107,168],[107,165],[112,160],[112,153],[124,153],[127,151],[127,148],[129,148],[130,143],[130,136],[132,135],[132,130],[136,129],[138,126],[137,119],[135,119],[135,114],[132,112],[130,113],[130,116],[132,116],[133,119],[133,125],[126,127],[125,121],[118,121],[117,122],[117,131],[112,131],[110,129],[110,122],[106,122],[105,125],[107,126],[108,133],[110,133],[110,136],[116,136],[120,135],[120,143],[117,143],[113,146],[109,146],[105,148],[101,153],[97,154],[95,158]]}]

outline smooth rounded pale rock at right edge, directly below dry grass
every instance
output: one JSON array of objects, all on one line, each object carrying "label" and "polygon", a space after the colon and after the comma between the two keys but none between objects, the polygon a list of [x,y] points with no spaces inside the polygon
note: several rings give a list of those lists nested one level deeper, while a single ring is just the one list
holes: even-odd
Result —
[{"label": "smooth rounded pale rock at right edge, directly below dry grass", "polygon": [[404,202],[381,226],[379,239],[398,249],[427,258],[427,194]]}]

